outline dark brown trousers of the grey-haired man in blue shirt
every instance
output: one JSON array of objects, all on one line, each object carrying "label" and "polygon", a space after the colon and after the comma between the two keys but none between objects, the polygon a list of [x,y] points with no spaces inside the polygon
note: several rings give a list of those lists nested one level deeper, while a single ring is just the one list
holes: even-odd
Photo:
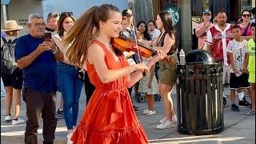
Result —
[{"label": "dark brown trousers of the grey-haired man in blue shirt", "polygon": [[38,92],[24,87],[22,98],[26,102],[26,131],[25,143],[38,143],[39,119],[42,117],[43,143],[54,143],[54,134],[57,126],[55,118],[56,111],[56,92]]}]

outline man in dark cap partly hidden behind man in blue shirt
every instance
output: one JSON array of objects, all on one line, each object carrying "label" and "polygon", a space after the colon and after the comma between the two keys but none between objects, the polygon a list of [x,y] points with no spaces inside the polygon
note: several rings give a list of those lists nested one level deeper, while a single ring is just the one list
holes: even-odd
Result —
[{"label": "man in dark cap partly hidden behind man in blue shirt", "polygon": [[[58,19],[60,14],[56,12],[49,13],[46,22],[46,32],[54,33],[58,29]],[[54,34],[52,34],[54,35]]]}]

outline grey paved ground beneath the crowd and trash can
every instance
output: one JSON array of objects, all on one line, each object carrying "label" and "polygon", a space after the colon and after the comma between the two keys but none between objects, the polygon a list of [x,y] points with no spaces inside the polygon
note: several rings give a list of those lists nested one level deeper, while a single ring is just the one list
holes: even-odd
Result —
[{"label": "grey paved ground beneath the crowd and trash can", "polygon": [[[232,144],[254,144],[255,143],[255,115],[246,116],[244,112],[246,108],[240,108],[241,112],[233,112],[230,110],[230,91],[225,88],[225,94],[228,97],[228,103],[226,108],[224,108],[224,127],[225,129],[220,134],[212,135],[186,135],[179,134],[177,128],[170,128],[166,130],[157,130],[155,126],[158,121],[164,116],[164,110],[162,106],[162,101],[155,102],[154,109],[157,110],[157,114],[152,116],[145,116],[143,114],[137,114],[142,126],[146,130],[146,134],[150,139],[150,143],[232,143]],[[176,90],[174,89],[172,98],[176,102]],[[58,93],[58,102],[60,101],[60,94]],[[246,99],[249,99],[246,96]],[[238,101],[238,99],[237,99]],[[238,103],[238,102],[237,102]],[[84,89],[82,90],[78,120],[82,116],[86,104],[86,96]],[[141,107],[142,110],[146,109],[146,102],[135,102],[135,106]],[[175,106],[176,104],[174,104]],[[58,105],[59,106],[59,105]],[[20,110],[20,117],[26,119],[26,106],[22,101],[22,106]],[[2,144],[22,144],[24,138],[24,130],[26,123],[21,125],[12,126],[11,122],[5,122],[5,103],[4,98],[1,98],[1,143]],[[58,126],[56,129],[56,140],[54,143],[66,143],[66,124],[63,118],[58,119]],[[42,143],[42,120],[38,130],[38,143]]]}]

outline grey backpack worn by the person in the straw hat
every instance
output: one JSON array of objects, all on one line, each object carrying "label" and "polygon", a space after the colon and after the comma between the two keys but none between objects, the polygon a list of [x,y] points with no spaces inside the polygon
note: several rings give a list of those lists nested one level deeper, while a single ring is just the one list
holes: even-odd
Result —
[{"label": "grey backpack worn by the person in the straw hat", "polygon": [[3,74],[13,74],[14,70],[18,67],[14,57],[17,40],[18,38],[15,38],[14,41],[9,40],[7,42],[6,38],[2,37],[4,44],[1,48],[1,73]]}]

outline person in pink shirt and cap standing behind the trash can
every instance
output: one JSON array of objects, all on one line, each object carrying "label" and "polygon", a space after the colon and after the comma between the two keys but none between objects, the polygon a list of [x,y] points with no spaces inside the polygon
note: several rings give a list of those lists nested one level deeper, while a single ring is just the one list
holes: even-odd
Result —
[{"label": "person in pink shirt and cap standing behind the trash can", "polygon": [[214,24],[210,22],[211,12],[210,10],[204,10],[202,12],[202,23],[199,23],[195,28],[195,34],[198,37],[198,49],[203,49],[204,41],[206,39],[207,31],[210,30]]}]

